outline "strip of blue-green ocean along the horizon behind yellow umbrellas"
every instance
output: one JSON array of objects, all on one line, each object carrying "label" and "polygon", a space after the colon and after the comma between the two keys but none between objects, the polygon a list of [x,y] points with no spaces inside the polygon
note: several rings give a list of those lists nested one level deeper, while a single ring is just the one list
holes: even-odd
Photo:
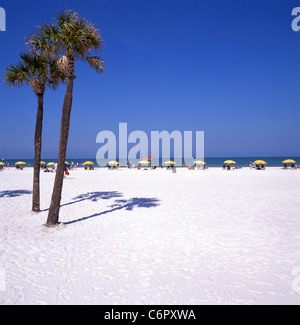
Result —
[{"label": "strip of blue-green ocean along the horizon behind yellow umbrellas", "polygon": [[[295,160],[298,164],[300,164],[300,157],[220,157],[220,158],[205,158],[206,166],[207,167],[222,167],[224,165],[225,160],[234,160],[237,164],[236,166],[239,167],[248,167],[250,164],[250,161],[255,161],[255,160],[264,160],[268,163],[267,166],[269,167],[281,167],[282,161],[286,159],[293,159]],[[117,159],[118,160],[118,159]],[[172,159],[171,159],[172,160]],[[32,167],[33,166],[33,159],[4,159],[2,158],[0,161],[4,163],[9,163],[10,167],[14,167],[15,163],[18,161],[23,161],[26,162],[25,167]],[[56,159],[44,159],[43,160],[46,164],[49,162],[56,162]],[[73,162],[74,164],[78,163],[79,167],[83,167],[83,163],[85,161],[92,161],[95,164],[95,167],[98,167],[96,159],[93,158],[67,158],[67,162],[71,163]],[[165,159],[156,159],[155,164],[159,166],[161,163],[165,162]],[[132,165],[137,165],[138,160],[133,161]],[[190,165],[191,163],[186,163],[186,165]]]}]

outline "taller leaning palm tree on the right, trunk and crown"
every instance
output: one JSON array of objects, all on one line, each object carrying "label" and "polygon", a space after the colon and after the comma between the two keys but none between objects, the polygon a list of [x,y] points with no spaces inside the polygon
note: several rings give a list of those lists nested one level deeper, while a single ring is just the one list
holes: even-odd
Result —
[{"label": "taller leaning palm tree on the right, trunk and crown", "polygon": [[57,171],[46,226],[59,223],[59,211],[64,180],[64,167],[70,128],[73,101],[73,83],[76,78],[75,63],[85,61],[98,73],[104,71],[104,61],[93,52],[102,50],[103,40],[98,29],[78,13],[65,10],[59,13],[56,21],[39,26],[36,32],[27,37],[27,44],[35,51],[45,51],[58,62],[67,79],[61,118],[61,131]]}]

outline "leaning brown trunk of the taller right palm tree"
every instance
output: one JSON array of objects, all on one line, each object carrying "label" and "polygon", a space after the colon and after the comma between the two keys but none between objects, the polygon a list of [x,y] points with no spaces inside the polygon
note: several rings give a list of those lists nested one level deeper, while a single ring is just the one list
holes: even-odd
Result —
[{"label": "leaning brown trunk of the taller right palm tree", "polygon": [[59,221],[59,210],[60,210],[60,203],[61,203],[61,194],[63,189],[64,168],[65,168],[65,161],[66,161],[66,154],[67,154],[67,144],[68,144],[68,137],[69,137],[71,109],[72,109],[73,82],[74,80],[72,77],[67,78],[67,90],[65,94],[63,111],[62,111],[62,119],[61,119],[57,170],[56,170],[52,199],[49,208],[46,227],[56,226]]}]

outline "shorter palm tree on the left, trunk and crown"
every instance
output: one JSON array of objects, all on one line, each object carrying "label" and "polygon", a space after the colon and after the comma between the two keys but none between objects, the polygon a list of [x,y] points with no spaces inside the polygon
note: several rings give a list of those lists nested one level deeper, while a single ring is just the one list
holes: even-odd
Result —
[{"label": "shorter palm tree on the left, trunk and crown", "polygon": [[38,98],[34,138],[34,176],[32,192],[32,211],[40,211],[40,163],[42,151],[42,128],[44,114],[44,94],[46,87],[55,89],[64,75],[54,60],[42,53],[24,52],[20,61],[6,68],[5,82],[9,87],[31,86]]}]

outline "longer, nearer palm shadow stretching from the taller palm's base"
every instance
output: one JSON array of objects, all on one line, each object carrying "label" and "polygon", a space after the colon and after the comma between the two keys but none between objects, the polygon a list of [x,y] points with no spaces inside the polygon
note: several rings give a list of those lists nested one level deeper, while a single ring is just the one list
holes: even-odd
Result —
[{"label": "longer, nearer palm shadow stretching from the taller palm's base", "polygon": [[158,200],[156,198],[132,198],[129,200],[116,200],[115,204],[110,206],[111,207],[110,210],[106,210],[106,211],[103,211],[100,213],[95,213],[91,216],[80,218],[77,220],[64,222],[64,224],[69,225],[72,223],[85,221],[85,220],[95,218],[95,217],[100,217],[100,216],[103,216],[103,215],[106,215],[108,213],[112,213],[112,212],[115,212],[118,210],[132,211],[135,208],[148,208],[148,209],[155,208],[155,207],[159,206],[159,202],[160,202],[160,200]]}]

